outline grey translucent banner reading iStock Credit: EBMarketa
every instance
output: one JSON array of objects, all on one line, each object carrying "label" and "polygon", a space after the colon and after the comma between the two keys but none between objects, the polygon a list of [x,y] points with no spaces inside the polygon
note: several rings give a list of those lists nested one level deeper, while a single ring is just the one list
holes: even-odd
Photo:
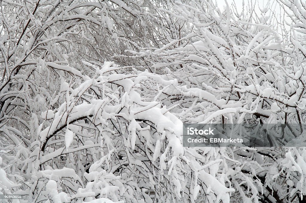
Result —
[{"label": "grey translucent banner reading iStock Credit: EBMarketa", "polygon": [[184,124],[183,146],[306,146],[306,124]]}]

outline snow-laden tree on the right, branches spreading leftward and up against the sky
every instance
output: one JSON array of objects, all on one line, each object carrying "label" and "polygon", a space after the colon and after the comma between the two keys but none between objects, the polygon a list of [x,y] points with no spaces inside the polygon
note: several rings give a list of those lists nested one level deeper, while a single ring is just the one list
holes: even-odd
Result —
[{"label": "snow-laden tree on the right, branches spreading leftward and up against the sky", "polygon": [[[269,7],[260,7],[257,17],[252,5],[239,14],[205,1],[176,1],[175,9],[162,9],[182,27],[181,38],[138,53],[156,73],[178,81],[174,90],[159,87],[159,101],[186,123],[304,123],[305,54],[296,32],[304,31],[305,4],[284,5],[297,15],[291,33]],[[229,169],[233,202],[304,201],[303,167],[297,167],[304,165],[303,148],[228,148],[220,157],[224,168],[219,166],[216,178]]]}]

